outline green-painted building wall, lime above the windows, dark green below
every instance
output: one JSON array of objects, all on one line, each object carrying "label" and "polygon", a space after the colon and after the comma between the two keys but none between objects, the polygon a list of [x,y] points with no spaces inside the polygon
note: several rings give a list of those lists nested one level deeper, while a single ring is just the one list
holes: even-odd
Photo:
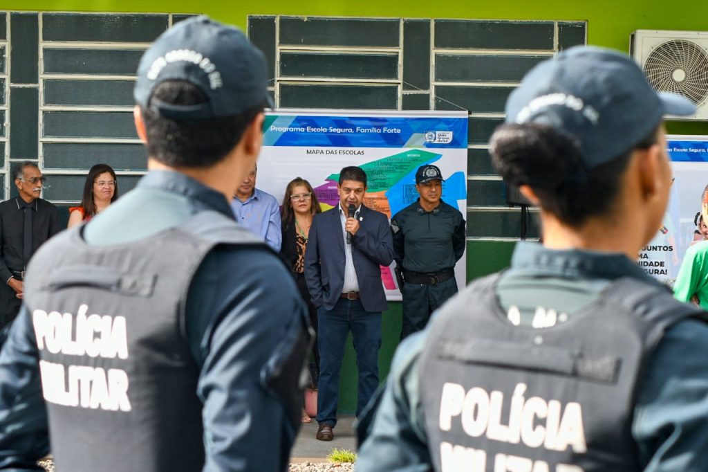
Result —
[{"label": "green-painted building wall, lime above the windows, dark green below", "polygon": [[[2,0],[0,10],[132,11],[207,13],[245,28],[249,15],[378,16],[406,18],[491,18],[510,20],[585,20],[588,43],[629,50],[629,33],[636,29],[705,30],[708,1],[666,0]],[[708,135],[708,123],[668,123],[676,134]],[[508,264],[513,242],[469,242],[468,279],[489,274]],[[384,313],[384,342],[379,356],[382,377],[388,373],[401,325],[401,306],[391,303]],[[341,381],[341,410],[353,411],[356,402],[354,354],[346,352]]]}]

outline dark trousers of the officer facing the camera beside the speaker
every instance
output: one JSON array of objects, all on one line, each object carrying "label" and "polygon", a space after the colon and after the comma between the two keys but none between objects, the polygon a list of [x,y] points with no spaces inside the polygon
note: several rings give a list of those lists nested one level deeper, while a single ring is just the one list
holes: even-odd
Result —
[{"label": "dark trousers of the officer facing the camera beside the speaker", "polygon": [[423,330],[430,320],[433,311],[440,308],[448,298],[457,293],[455,277],[433,285],[422,283],[403,284],[403,322],[401,324],[401,339]]}]

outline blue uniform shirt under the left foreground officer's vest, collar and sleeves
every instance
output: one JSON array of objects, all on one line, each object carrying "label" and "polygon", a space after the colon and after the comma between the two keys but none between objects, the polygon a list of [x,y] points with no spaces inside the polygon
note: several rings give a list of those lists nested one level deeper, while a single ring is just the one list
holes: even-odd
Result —
[{"label": "blue uniform shirt under the left foreground officer's vest, collar and sleeves", "polygon": [[[104,245],[141,240],[200,210],[234,218],[222,193],[177,172],[151,171],[93,218],[84,237]],[[279,287],[277,297],[268,291],[273,286]],[[299,329],[294,320],[304,313],[295,282],[267,248],[217,247],[205,257],[185,308],[186,337],[200,369],[205,470],[278,470],[281,458],[272,454],[273,441],[285,450],[295,438],[273,437],[281,430],[273,425],[286,421],[284,405],[258,378],[279,355],[282,340]],[[13,470],[36,470],[36,459],[49,452],[37,349],[23,308],[0,356],[0,469],[11,464]]]}]

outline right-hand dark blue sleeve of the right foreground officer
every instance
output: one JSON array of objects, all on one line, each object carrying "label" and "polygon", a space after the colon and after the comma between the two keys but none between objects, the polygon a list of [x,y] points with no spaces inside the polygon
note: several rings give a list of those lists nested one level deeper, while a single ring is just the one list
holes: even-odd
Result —
[{"label": "right-hand dark blue sleeve of the right foreground officer", "polygon": [[708,470],[708,325],[672,327],[651,358],[632,434],[645,472]]}]

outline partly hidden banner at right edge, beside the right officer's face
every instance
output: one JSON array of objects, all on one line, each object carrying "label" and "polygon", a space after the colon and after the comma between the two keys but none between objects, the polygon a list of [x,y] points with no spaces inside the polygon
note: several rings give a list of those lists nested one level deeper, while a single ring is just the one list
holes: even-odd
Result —
[{"label": "partly hidden banner at right edge, beside the right officer's face", "polygon": [[639,253],[639,265],[673,286],[686,249],[708,237],[696,224],[708,185],[708,136],[667,136],[666,151],[675,180],[661,228]]}]

